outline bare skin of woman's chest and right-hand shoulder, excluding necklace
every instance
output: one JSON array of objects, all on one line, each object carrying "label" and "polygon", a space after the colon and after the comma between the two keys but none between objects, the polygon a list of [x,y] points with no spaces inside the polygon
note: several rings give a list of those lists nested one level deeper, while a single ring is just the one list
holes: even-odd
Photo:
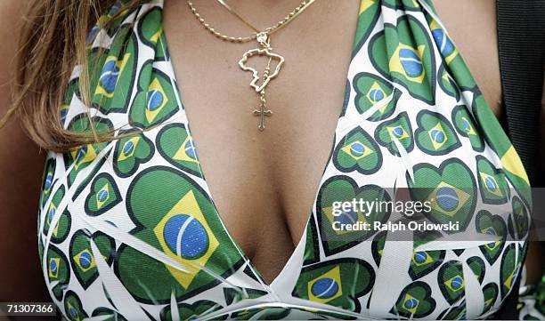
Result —
[{"label": "bare skin of woman's chest and right-hand shoulder, excluding necklace", "polygon": [[[194,3],[224,34],[251,31],[216,2]],[[298,3],[229,2],[258,28]],[[268,281],[284,267],[311,213],[344,99],[359,3],[318,1],[273,36],[274,49],[287,63],[268,89],[275,114],[258,132],[251,115],[256,94],[236,65],[255,44],[224,43],[208,34],[186,5],[166,1],[164,27],[207,182],[232,237]],[[435,3],[500,115],[499,65],[490,59],[497,56],[494,2]]]}]

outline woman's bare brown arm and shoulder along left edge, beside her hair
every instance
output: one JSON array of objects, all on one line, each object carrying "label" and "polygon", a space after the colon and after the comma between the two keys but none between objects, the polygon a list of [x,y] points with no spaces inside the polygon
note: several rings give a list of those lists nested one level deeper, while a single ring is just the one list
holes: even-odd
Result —
[{"label": "woman's bare brown arm and shoulder along left edge, beside her hair", "polygon": [[[0,114],[10,104],[17,26],[29,1],[0,2]],[[18,119],[0,135],[0,301],[50,301],[37,255],[37,200],[44,154]]]}]

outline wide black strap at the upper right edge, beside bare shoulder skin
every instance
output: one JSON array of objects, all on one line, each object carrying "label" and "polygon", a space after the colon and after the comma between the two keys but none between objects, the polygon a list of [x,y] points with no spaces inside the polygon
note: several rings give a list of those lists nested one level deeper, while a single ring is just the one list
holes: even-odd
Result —
[{"label": "wide black strap at the upper right edge, beside bare shoulder skin", "polygon": [[543,88],[545,2],[497,0],[496,8],[508,135],[525,165],[530,182],[535,185],[538,183],[536,146]]}]

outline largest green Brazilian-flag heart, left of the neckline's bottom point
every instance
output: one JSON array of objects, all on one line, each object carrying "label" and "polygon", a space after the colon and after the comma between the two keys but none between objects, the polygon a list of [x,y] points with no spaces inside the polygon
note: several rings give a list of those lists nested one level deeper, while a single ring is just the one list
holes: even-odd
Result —
[{"label": "largest green Brazilian-flag heart, left of the neckline's bottom point", "polygon": [[[227,278],[245,262],[207,193],[172,167],[154,166],[138,173],[128,188],[126,209],[135,225],[130,234],[186,269],[175,269],[128,245],[119,246],[114,269],[137,301],[169,303],[173,292],[177,301],[191,298],[216,285],[214,276]],[[192,231],[183,230],[186,221],[193,224]],[[190,252],[176,249],[181,240],[171,236],[181,231],[186,231],[181,236],[186,240],[195,236],[189,238],[195,242]],[[149,273],[153,277],[143,277]]]}]

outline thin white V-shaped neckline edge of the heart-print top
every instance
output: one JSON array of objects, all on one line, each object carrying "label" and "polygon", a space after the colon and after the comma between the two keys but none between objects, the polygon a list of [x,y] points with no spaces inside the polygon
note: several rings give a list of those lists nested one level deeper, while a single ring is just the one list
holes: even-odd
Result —
[{"label": "thin white V-shaped neckline edge of the heart-print top", "polygon": [[[160,0],[160,6],[161,8],[164,7],[164,0]],[[354,48],[356,46],[356,42],[358,40],[358,35],[357,35],[357,28],[358,26],[362,23],[362,15],[360,14],[360,11],[361,11],[361,8],[362,8],[362,5],[364,5],[364,2],[366,0],[360,0],[360,4],[358,6],[358,17],[356,19],[356,22],[355,22],[355,26],[354,26],[354,35],[352,36],[352,48],[351,48],[351,52],[349,52],[350,54],[350,62],[348,63],[348,68],[347,68],[347,71],[346,71],[346,76],[345,76],[345,79],[348,79],[350,74],[351,74],[351,70],[352,70],[352,67],[353,67],[353,58],[354,58],[354,54],[353,54],[353,51],[354,51]],[[161,25],[163,24],[163,20],[161,18]],[[163,28],[163,32],[164,31],[164,28]],[[192,142],[193,142],[193,148],[195,148],[195,151],[196,151],[196,155],[199,155],[198,153],[198,149],[197,149],[197,143],[195,142],[194,138],[193,138],[193,135],[191,133],[191,125],[189,124],[190,121],[189,121],[189,117],[187,116],[187,113],[186,113],[186,109],[187,109],[187,105],[185,103],[183,103],[183,96],[182,96],[182,91],[181,91],[181,88],[178,86],[178,81],[177,81],[177,77],[176,77],[176,73],[175,73],[175,68],[174,68],[174,62],[172,60],[172,56],[168,53],[169,52],[169,49],[168,49],[168,40],[167,40],[167,34],[164,34],[164,48],[163,50],[167,53],[167,57],[168,60],[167,60],[167,63],[169,65],[169,68],[172,69],[172,78],[174,80],[174,84],[175,84],[175,92],[176,94],[178,95],[179,99],[180,99],[180,102],[182,103],[182,106],[180,107],[180,111],[181,113],[183,114],[183,116],[185,117],[186,119],[186,123],[187,123],[187,126],[186,126],[186,131],[188,133],[188,136],[191,138]],[[162,39],[159,38],[159,42],[162,42]],[[346,83],[343,83],[342,84],[344,87],[346,86]],[[324,161],[324,165],[322,166],[322,171],[321,171],[321,178],[320,178],[320,182],[318,184],[318,187],[316,189],[316,192],[314,193],[314,200],[313,200],[313,205],[312,207],[310,208],[310,211],[308,213],[308,217],[306,219],[306,223],[305,223],[305,228],[303,229],[303,234],[301,235],[301,237],[299,238],[298,242],[297,242],[297,245],[296,247],[294,248],[294,250],[292,251],[292,253],[289,254],[289,259],[288,261],[286,261],[286,263],[284,263],[280,273],[273,278],[273,280],[271,282],[267,282],[264,280],[264,278],[262,277],[262,274],[261,272],[259,271],[259,269],[256,268],[256,265],[249,259],[248,255],[246,253],[244,253],[244,251],[242,250],[242,248],[240,247],[239,245],[239,242],[234,238],[232,237],[231,233],[229,232],[229,229],[227,228],[227,225],[225,225],[224,223],[224,220],[222,219],[222,215],[219,213],[219,210],[216,206],[216,203],[214,202],[214,197],[212,196],[212,192],[208,186],[208,183],[207,183],[207,180],[206,180],[206,177],[204,175],[204,170],[202,168],[202,165],[200,164],[200,160],[199,160],[199,157],[197,157],[197,160],[198,160],[198,167],[199,167],[199,175],[202,179],[202,185],[204,186],[205,190],[207,191],[207,197],[211,200],[211,203],[212,203],[212,206],[214,208],[214,211],[216,213],[216,216],[217,216],[217,219],[219,220],[220,224],[222,225],[222,227],[224,228],[224,232],[225,234],[229,237],[229,239],[231,240],[232,244],[235,245],[235,247],[238,249],[238,251],[240,252],[240,256],[242,256],[244,258],[245,261],[247,261],[248,263],[248,266],[250,267],[250,269],[253,270],[254,273],[257,274],[256,277],[259,278],[259,282],[264,285],[265,287],[267,287],[267,289],[270,291],[270,292],[273,292],[272,290],[272,287],[275,283],[278,283],[279,280],[281,280],[281,278],[287,273],[286,272],[286,269],[289,267],[290,265],[290,261],[296,259],[295,258],[295,255],[297,254],[297,248],[301,245],[302,242],[305,241],[305,234],[306,234],[306,229],[308,227],[308,224],[309,222],[313,219],[313,209],[314,207],[316,206],[316,198],[318,197],[318,193],[320,192],[320,189],[321,189],[321,184],[322,184],[322,181],[323,181],[323,175],[325,173],[325,170],[327,169],[328,165],[329,165],[329,158],[330,158],[330,155],[331,155],[331,151],[333,150],[333,148],[335,148],[335,133],[338,132],[338,130],[340,129],[340,127],[342,127],[342,116],[343,116],[343,109],[344,109],[344,106],[346,104],[346,100],[348,100],[350,98],[350,94],[351,94],[351,91],[349,90],[346,90],[345,89],[345,94],[344,94],[344,98],[342,101],[339,101],[339,105],[340,105],[340,108],[338,110],[338,119],[337,119],[337,124],[335,126],[335,130],[334,132],[332,133],[333,134],[333,140],[332,140],[332,147],[330,148],[329,150],[329,155],[327,157],[327,159]]]}]

